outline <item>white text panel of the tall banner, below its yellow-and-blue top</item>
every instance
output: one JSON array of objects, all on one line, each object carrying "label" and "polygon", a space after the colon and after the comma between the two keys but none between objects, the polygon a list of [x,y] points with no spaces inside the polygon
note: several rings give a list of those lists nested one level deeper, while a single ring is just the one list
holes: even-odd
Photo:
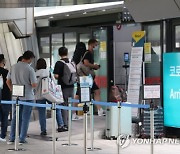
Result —
[{"label": "white text panel of the tall banner, below its yellow-and-blue top", "polygon": [[[131,63],[129,70],[129,84],[127,101],[131,104],[139,104],[141,85],[143,47],[133,47],[131,51]],[[138,64],[138,65],[134,65]],[[137,116],[138,110],[132,109],[132,116]]]}]

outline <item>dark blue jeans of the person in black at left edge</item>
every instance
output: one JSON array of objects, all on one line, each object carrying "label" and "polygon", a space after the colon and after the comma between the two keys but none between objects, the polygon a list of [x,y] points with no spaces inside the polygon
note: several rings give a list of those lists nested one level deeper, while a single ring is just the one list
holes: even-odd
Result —
[{"label": "dark blue jeans of the person in black at left edge", "polygon": [[0,121],[1,121],[1,138],[6,137],[7,126],[8,126],[8,115],[11,110],[11,105],[1,104],[0,105]]}]

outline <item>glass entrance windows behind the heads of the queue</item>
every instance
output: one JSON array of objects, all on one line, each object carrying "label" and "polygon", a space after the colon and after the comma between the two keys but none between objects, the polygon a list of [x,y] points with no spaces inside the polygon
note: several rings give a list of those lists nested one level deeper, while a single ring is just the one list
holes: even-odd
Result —
[{"label": "glass entrance windows behind the heads of the queue", "polygon": [[[48,67],[50,67],[50,63],[51,63],[51,68],[54,68],[55,63],[60,58],[58,54],[58,49],[60,47],[62,46],[67,47],[69,53],[68,57],[72,59],[77,42],[79,41],[84,42],[87,47],[87,43],[90,38],[91,38],[90,32],[89,33],[60,32],[60,33],[50,34],[48,36],[41,36],[39,38],[40,57],[46,59]],[[50,49],[50,45],[51,45],[51,49]]]}]

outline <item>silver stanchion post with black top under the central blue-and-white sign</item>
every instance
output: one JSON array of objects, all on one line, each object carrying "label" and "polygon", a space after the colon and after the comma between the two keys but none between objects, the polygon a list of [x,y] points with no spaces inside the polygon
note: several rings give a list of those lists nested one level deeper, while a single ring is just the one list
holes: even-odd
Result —
[{"label": "silver stanchion post with black top under the central blue-and-white sign", "polygon": [[83,106],[84,111],[84,154],[87,154],[87,112],[88,106],[85,103]]}]

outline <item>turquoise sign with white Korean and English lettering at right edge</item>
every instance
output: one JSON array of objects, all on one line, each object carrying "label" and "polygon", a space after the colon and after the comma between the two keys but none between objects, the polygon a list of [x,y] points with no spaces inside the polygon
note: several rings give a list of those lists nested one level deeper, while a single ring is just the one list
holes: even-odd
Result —
[{"label": "turquoise sign with white Korean and English lettering at right edge", "polygon": [[164,125],[180,128],[180,53],[163,55]]}]

